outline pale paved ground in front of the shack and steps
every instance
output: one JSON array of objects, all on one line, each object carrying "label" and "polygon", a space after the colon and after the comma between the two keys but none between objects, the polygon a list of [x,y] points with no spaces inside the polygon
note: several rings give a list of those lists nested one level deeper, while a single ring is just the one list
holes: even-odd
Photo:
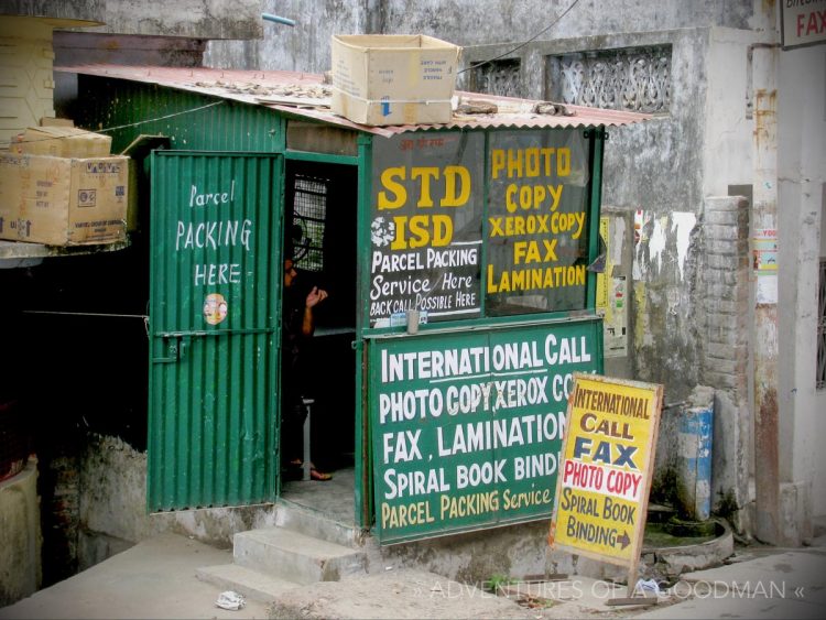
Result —
[{"label": "pale paved ground in front of the shack and steps", "polygon": [[229,563],[231,553],[163,534],[0,609],[0,619],[826,617],[826,537],[800,550],[738,550],[735,559],[684,575],[649,607],[612,606],[626,588],[585,577],[519,584],[498,597],[432,573],[388,570],[229,611],[215,605],[220,589],[197,580],[195,568]]}]

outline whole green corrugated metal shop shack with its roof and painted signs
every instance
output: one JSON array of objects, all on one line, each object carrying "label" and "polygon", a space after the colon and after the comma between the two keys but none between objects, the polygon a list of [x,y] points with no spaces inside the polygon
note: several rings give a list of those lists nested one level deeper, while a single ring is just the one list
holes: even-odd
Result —
[{"label": "whole green corrugated metal shop shack with its roof and painted signs", "polygon": [[394,543],[548,518],[572,374],[602,369],[606,128],[644,117],[474,95],[498,111],[379,128],[320,76],[59,70],[133,157],[150,231],[150,511],[290,498],[290,246],[329,293],[301,389],[313,459],[355,480],[345,519]]}]

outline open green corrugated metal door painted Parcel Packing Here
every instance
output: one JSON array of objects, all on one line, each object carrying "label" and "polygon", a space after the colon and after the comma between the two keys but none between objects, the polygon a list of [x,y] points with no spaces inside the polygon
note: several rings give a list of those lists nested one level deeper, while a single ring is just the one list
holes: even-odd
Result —
[{"label": "open green corrugated metal door painted Parcel Packing Here", "polygon": [[150,511],[272,501],[280,155],[152,155]]}]

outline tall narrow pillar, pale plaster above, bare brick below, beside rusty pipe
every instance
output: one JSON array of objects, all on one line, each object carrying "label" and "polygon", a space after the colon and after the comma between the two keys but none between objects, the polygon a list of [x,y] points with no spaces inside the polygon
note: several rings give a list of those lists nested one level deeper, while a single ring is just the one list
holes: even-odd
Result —
[{"label": "tall narrow pillar, pale plaster above, bare brick below, beside rusty pipe", "polygon": [[717,389],[711,499],[715,510],[739,532],[750,527],[746,509],[751,501],[751,205],[725,196],[731,186],[752,186],[751,46],[764,36],[754,31],[710,30],[704,113],[704,382]]}]

